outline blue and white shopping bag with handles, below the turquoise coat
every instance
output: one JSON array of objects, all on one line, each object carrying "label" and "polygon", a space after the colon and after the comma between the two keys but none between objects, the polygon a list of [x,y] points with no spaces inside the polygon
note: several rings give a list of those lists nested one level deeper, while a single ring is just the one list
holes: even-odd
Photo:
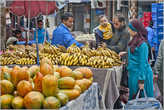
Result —
[{"label": "blue and white shopping bag with handles, below the turquoise coat", "polygon": [[145,90],[144,98],[139,98],[140,91],[138,91],[136,99],[128,101],[125,105],[125,110],[162,110],[161,103],[153,97],[147,97]]}]

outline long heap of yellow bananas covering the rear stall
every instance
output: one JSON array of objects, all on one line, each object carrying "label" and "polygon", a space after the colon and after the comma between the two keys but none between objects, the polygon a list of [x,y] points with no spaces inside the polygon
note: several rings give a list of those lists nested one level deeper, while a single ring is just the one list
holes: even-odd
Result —
[{"label": "long heap of yellow bananas covering the rear stall", "polygon": [[[35,45],[26,47],[10,46],[9,48],[14,51],[6,51],[0,56],[1,65],[36,64],[37,56]],[[55,65],[111,68],[122,64],[118,54],[106,47],[91,49],[88,45],[86,45],[83,48],[79,48],[73,44],[66,49],[63,46],[56,47],[46,43],[44,45],[40,45],[39,50],[40,60],[47,57]]]}]

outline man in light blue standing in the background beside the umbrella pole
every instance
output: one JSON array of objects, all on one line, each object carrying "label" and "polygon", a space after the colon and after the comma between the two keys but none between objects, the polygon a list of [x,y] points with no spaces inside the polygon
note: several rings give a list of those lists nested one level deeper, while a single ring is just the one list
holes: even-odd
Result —
[{"label": "man in light blue standing in the background beside the umbrella pole", "polygon": [[38,35],[38,44],[43,44],[46,40],[50,42],[48,32],[43,28],[43,21],[38,19],[38,28],[34,31],[34,40],[36,41],[36,35]]}]

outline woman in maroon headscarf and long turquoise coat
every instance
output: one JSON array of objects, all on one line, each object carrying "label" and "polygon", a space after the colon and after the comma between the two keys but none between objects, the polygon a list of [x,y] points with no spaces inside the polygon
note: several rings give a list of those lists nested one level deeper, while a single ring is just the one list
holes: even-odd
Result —
[{"label": "woman in maroon headscarf and long turquoise coat", "polygon": [[[148,63],[147,40],[141,29],[143,25],[140,21],[134,19],[129,23],[128,31],[132,37],[128,44],[129,99],[135,98],[139,88],[144,88],[147,96],[153,97],[153,72]],[[143,97],[143,92],[141,95]]]}]

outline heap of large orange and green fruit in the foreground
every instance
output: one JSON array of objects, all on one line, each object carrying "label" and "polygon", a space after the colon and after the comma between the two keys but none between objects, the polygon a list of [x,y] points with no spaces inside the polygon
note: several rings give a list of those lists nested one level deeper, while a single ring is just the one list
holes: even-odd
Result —
[{"label": "heap of large orange and green fruit in the foreground", "polygon": [[76,99],[93,81],[89,68],[71,70],[43,58],[40,66],[0,68],[2,109],[58,109]]}]

